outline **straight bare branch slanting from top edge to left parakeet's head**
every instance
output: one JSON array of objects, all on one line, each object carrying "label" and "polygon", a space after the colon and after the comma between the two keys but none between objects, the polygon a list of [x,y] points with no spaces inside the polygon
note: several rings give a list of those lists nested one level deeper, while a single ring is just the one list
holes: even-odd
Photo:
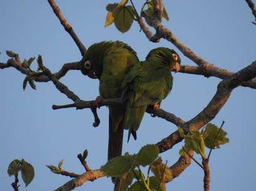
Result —
[{"label": "straight bare branch slanting from top edge to left parakeet's head", "polygon": [[81,43],[78,36],[76,36],[76,33],[74,32],[72,26],[70,26],[69,23],[67,23],[66,19],[61,13],[61,9],[59,9],[54,0],[48,0],[48,3],[52,7],[52,10],[54,11],[57,18],[59,18],[59,21],[61,21],[61,25],[64,26],[67,33],[69,33],[69,35],[73,38],[83,57],[84,53],[86,52],[86,48],[84,47],[83,43]]}]

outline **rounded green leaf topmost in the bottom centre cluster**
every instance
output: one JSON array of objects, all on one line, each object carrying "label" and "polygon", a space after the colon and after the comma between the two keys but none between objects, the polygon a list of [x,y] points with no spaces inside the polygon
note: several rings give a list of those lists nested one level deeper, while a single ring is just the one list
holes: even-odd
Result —
[{"label": "rounded green leaf topmost in the bottom centre cluster", "polygon": [[159,154],[159,149],[156,145],[146,145],[139,150],[136,156],[136,161],[138,165],[146,166],[150,165]]}]

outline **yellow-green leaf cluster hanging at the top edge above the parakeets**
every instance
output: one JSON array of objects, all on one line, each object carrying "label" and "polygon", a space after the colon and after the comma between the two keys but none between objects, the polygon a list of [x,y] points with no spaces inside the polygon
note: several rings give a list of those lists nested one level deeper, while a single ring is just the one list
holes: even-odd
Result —
[{"label": "yellow-green leaf cluster hanging at the top edge above the parakeets", "polygon": [[[131,28],[133,21],[138,21],[139,15],[137,14],[136,9],[134,6],[127,5],[128,2],[129,0],[122,0],[120,3],[107,4],[106,9],[108,14],[106,17],[105,27],[115,23],[117,30],[121,33],[125,33]],[[153,1],[146,0],[141,8],[141,12],[144,11],[148,16],[153,16],[153,10]],[[162,16],[168,21],[169,18],[165,8],[163,8]],[[145,20],[149,26],[152,26],[148,18]]]}]

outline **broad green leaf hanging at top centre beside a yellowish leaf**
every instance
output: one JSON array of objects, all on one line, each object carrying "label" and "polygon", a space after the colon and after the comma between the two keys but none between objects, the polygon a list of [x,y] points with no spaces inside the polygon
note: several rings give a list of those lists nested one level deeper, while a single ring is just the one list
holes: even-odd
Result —
[{"label": "broad green leaf hanging at top centre beside a yellowish leaf", "polygon": [[113,12],[115,27],[121,33],[127,32],[134,21],[134,9],[132,6],[122,6]]}]

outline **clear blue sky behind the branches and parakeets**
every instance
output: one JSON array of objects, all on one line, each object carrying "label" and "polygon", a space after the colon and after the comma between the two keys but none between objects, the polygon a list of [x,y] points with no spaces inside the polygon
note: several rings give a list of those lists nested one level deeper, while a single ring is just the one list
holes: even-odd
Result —
[{"label": "clear blue sky behind the branches and parakeets", "polygon": [[[166,46],[177,50],[172,43],[161,40],[150,42],[134,22],[131,30],[120,33],[114,25],[104,28],[105,6],[115,1],[56,1],[62,14],[88,48],[103,40],[120,40],[136,50],[144,60],[149,50]],[[136,1],[137,10],[143,1]],[[217,67],[237,72],[256,60],[256,26],[252,11],[244,0],[163,1],[170,17],[163,25],[172,30],[186,46]],[[254,1],[254,3],[256,3]],[[2,1],[0,6],[0,62],[7,62],[5,50],[19,53],[24,58],[42,55],[44,64],[57,72],[64,63],[81,60],[80,52],[45,1]],[[178,53],[180,53],[178,51]],[[195,65],[180,53],[182,64]],[[32,63],[37,68],[37,63]],[[184,121],[190,120],[207,106],[221,79],[201,75],[173,74],[171,94],[161,107]],[[101,124],[93,128],[90,109],[52,110],[52,105],[70,104],[66,95],[55,89],[52,82],[36,83],[22,89],[25,75],[15,68],[0,70],[0,190],[13,190],[7,168],[14,159],[24,158],[35,168],[33,182],[25,188],[20,177],[20,190],[55,190],[69,177],[55,175],[45,165],[57,165],[68,172],[83,173],[76,156],[88,149],[88,165],[98,169],[107,161],[108,109],[98,109]],[[85,77],[79,71],[70,71],[61,79],[70,90],[83,100],[98,95],[98,80]],[[248,87],[233,90],[230,99],[211,123],[228,133],[230,143],[214,150],[211,155],[211,190],[255,190],[255,133],[256,91]],[[157,143],[177,127],[164,119],[146,114],[137,140],[127,144],[124,135],[123,151],[137,153],[148,143]],[[178,159],[183,142],[161,154],[171,166]],[[195,156],[200,160],[199,156]],[[203,172],[194,162],[180,177],[167,184],[167,190],[203,190]],[[110,178],[86,182],[76,190],[112,190]]]}]

